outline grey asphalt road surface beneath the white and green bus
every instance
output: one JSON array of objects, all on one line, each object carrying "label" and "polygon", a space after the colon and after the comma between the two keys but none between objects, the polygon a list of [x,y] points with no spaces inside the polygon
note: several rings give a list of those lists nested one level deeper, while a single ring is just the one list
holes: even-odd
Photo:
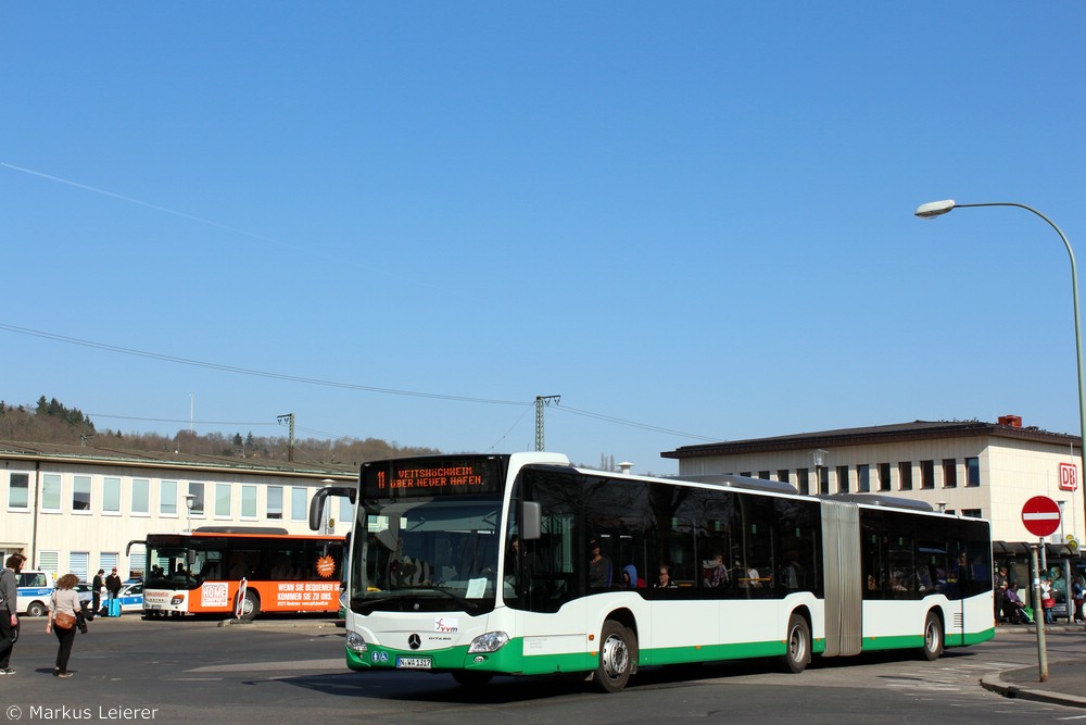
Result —
[{"label": "grey asphalt road surface beneath the white and green bus", "polygon": [[[1086,710],[1000,697],[992,672],[1036,663],[1035,639],[1000,634],[935,663],[904,654],[825,660],[801,675],[763,662],[642,671],[603,695],[577,678],[496,678],[481,691],[449,675],[349,672],[343,630],[324,620],[219,627],[214,621],[97,620],[71,679],[51,671],[55,639],[24,620],[0,678],[4,721],[114,723],[1040,723]],[[1086,635],[1049,637],[1053,661],[1086,657]]]}]

